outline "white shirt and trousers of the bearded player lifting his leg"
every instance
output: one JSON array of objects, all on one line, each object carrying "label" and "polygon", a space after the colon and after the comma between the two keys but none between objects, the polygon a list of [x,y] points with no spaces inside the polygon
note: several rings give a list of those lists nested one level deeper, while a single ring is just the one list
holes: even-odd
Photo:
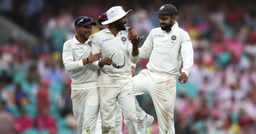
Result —
[{"label": "white shirt and trousers of the bearded player lifting his leg", "polygon": [[[178,27],[175,21],[167,33],[161,28],[154,28],[139,48],[140,58],[150,60],[143,69],[132,78],[135,95],[149,93],[152,97],[158,119],[159,134],[175,134],[174,104],[176,98],[176,77],[182,72],[187,76],[193,65],[193,48],[189,34]],[[139,107],[137,100],[137,117],[142,120],[146,113]]]}]

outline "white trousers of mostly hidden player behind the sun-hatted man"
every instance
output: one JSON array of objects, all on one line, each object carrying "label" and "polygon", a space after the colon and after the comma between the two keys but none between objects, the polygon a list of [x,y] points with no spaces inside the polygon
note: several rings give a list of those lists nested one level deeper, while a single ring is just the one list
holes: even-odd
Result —
[{"label": "white trousers of mostly hidden player behind the sun-hatted man", "polygon": [[[121,107],[118,102],[116,105],[115,115],[116,115],[116,117],[115,117],[115,134],[123,134],[123,132],[122,132],[122,125],[123,125],[122,110],[121,110]],[[100,112],[98,114],[95,134],[102,134]]]}]

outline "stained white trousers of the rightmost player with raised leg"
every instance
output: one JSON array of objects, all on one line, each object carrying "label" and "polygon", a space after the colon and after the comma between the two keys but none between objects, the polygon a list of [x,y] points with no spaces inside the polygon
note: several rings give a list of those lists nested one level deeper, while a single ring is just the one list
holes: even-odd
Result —
[{"label": "stained white trousers of the rightmost player with raised leg", "polygon": [[[156,109],[159,134],[175,134],[174,104],[176,99],[176,77],[143,69],[132,78],[135,95],[149,93]],[[146,113],[135,98],[136,114],[142,120]]]}]

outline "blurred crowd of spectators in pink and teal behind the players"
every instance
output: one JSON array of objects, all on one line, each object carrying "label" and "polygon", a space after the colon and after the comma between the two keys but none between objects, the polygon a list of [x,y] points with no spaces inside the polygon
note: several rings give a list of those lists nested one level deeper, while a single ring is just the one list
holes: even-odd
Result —
[{"label": "blurred crowd of spectators in pink and teal behind the players", "polygon": [[[188,82],[177,83],[176,134],[256,134],[255,0],[0,0],[0,133],[76,134],[62,63],[74,19],[97,22],[119,5],[133,9],[126,26],[147,37],[160,26],[153,13],[163,4],[176,6],[194,50]],[[136,73],[148,60],[139,60]],[[155,118],[148,134],[158,134],[150,95],[137,99]]]}]

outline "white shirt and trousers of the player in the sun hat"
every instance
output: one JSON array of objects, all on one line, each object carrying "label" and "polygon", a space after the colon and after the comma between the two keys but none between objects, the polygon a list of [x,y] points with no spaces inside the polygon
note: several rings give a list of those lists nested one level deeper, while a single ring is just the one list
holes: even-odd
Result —
[{"label": "white shirt and trousers of the player in the sun hat", "polygon": [[100,53],[112,58],[113,65],[104,65],[100,68],[98,62],[91,64],[93,69],[100,68],[98,81],[100,94],[100,113],[102,119],[102,134],[115,133],[116,99],[124,114],[127,134],[137,134],[137,117],[135,98],[132,91],[131,61],[137,63],[138,56],[132,56],[132,44],[127,38],[128,32],[120,30],[115,37],[108,28],[93,35],[93,54]]}]

